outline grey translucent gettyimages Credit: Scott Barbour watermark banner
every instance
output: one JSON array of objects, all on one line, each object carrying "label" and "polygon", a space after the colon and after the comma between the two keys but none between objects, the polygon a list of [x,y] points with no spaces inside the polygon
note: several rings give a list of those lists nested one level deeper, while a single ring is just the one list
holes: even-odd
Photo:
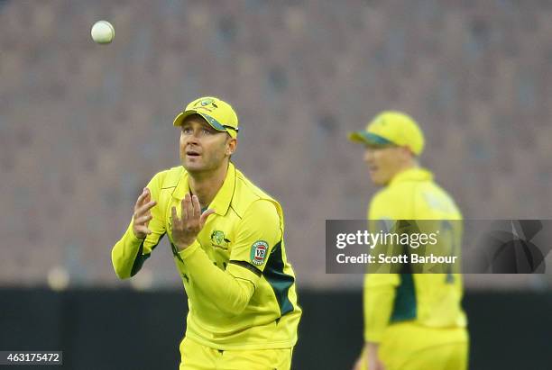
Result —
[{"label": "grey translucent gettyimages Credit: Scott Barbour watermark banner", "polygon": [[328,274],[543,274],[552,221],[328,220]]}]

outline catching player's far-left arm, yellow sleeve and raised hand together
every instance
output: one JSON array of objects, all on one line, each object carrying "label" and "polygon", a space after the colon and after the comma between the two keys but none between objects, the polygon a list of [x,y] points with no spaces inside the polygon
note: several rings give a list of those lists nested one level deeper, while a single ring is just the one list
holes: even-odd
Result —
[{"label": "catching player's far-left arm, yellow sleeve and raised hand together", "polygon": [[161,210],[156,202],[160,191],[159,178],[154,176],[134,204],[133,219],[123,238],[111,251],[115,274],[121,279],[136,275],[165,234]]}]

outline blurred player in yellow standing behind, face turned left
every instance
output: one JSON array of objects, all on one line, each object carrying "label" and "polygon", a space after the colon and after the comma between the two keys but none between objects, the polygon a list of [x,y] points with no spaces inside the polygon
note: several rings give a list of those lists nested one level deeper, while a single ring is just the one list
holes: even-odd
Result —
[{"label": "blurred player in yellow standing behind, face turned left", "polygon": [[[412,118],[382,112],[364,131],[350,133],[349,140],[365,146],[372,181],[382,186],[370,203],[368,220],[442,220],[444,228],[458,232],[450,227],[451,221],[462,220],[455,202],[431,172],[419,167],[424,136]],[[467,369],[462,294],[462,276],[456,273],[411,274],[403,269],[365,275],[365,345],[354,370]]]}]

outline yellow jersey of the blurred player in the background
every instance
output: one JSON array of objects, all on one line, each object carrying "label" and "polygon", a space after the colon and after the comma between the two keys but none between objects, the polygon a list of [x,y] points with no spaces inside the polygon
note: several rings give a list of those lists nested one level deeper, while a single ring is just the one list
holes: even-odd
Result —
[{"label": "yellow jersey of the blurred player in the background", "polygon": [[[446,222],[462,220],[462,214],[428,170],[410,168],[374,195],[368,220]],[[465,328],[462,294],[462,275],[458,274],[365,275],[364,339],[380,342],[389,325],[405,321],[430,328]]]}]

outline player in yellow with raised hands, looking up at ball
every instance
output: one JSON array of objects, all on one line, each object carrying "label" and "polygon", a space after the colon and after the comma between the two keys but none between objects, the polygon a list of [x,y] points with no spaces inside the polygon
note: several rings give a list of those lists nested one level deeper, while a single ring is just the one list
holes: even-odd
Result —
[{"label": "player in yellow with raised hands, looking up at ball", "polygon": [[182,166],[153,176],[113,248],[129,278],[166,234],[188,294],[180,370],[288,370],[301,309],[284,247],[281,205],[230,161],[238,118],[216,97],[174,120]]}]

